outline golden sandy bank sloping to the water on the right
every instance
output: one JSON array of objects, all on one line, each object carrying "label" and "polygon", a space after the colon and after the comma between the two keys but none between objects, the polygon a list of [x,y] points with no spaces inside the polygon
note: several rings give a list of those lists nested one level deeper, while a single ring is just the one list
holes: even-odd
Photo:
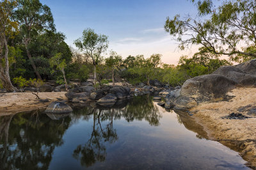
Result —
[{"label": "golden sandy bank sloping to the water on the right", "polygon": [[[256,88],[238,88],[228,93],[230,101],[201,103],[190,111],[196,122],[204,127],[209,139],[239,150],[248,166],[256,167],[256,115],[248,115],[256,106]],[[230,113],[250,117],[242,120],[223,118]]]}]

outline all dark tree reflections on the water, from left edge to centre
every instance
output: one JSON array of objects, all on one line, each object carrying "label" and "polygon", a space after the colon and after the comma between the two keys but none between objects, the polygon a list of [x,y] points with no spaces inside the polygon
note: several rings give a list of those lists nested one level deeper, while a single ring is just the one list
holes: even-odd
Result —
[{"label": "all dark tree reflections on the water, from left edge to centre", "polygon": [[[49,117],[48,117],[49,116]],[[79,120],[93,120],[86,143],[72,153],[83,166],[106,159],[106,144],[118,140],[115,120],[146,120],[159,125],[161,115],[151,96],[118,101],[112,108],[84,107],[74,109],[67,117],[46,115],[40,111],[0,117],[0,169],[48,169],[56,146],[63,145],[63,134]],[[53,120],[52,120],[53,119]]]}]

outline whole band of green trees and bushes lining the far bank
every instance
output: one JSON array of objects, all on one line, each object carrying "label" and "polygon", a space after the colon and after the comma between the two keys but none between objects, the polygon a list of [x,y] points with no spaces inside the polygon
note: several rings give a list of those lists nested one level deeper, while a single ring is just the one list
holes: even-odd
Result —
[{"label": "whole band of green trees and bushes lining the far bank", "polygon": [[109,80],[113,85],[116,80],[150,85],[150,80],[157,79],[176,86],[188,78],[211,74],[220,66],[256,58],[254,1],[225,1],[220,6],[211,0],[192,3],[198,9],[195,17],[175,15],[164,25],[181,50],[200,46],[192,57],[181,56],[174,66],[163,64],[161,54],[124,59],[108,52],[108,36],[91,28],[74,41],[76,51],[65,43],[65,35],[56,31],[48,6],[39,0],[1,0],[1,88],[12,92],[17,90],[13,85],[23,88],[31,85],[30,80],[54,80],[58,85],[65,83],[67,89],[70,81],[86,81],[92,76],[95,88]]}]

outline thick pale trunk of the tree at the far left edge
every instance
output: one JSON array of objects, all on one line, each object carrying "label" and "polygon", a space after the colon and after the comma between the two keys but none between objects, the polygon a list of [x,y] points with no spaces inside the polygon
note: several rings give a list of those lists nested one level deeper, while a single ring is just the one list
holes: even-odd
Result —
[{"label": "thick pale trunk of the tree at the far left edge", "polygon": [[[13,87],[12,82],[10,80],[10,74],[9,74],[9,61],[8,61],[8,45],[5,37],[3,38],[3,43],[1,45],[4,45],[4,64],[0,63],[0,79],[3,83],[4,89],[7,90],[7,92],[13,92],[17,90],[15,87]],[[0,46],[1,48],[1,46]],[[0,56],[0,59],[3,59],[2,56]]]}]

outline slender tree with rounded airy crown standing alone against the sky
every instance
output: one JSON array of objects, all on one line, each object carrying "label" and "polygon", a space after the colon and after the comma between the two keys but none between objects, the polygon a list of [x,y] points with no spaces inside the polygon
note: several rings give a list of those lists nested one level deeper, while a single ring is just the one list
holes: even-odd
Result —
[{"label": "slender tree with rounded airy crown standing alone against the sky", "polygon": [[76,39],[74,44],[92,59],[94,83],[96,83],[96,66],[102,61],[102,53],[108,49],[108,36],[97,34],[93,29],[87,28],[84,29],[83,36]]}]

